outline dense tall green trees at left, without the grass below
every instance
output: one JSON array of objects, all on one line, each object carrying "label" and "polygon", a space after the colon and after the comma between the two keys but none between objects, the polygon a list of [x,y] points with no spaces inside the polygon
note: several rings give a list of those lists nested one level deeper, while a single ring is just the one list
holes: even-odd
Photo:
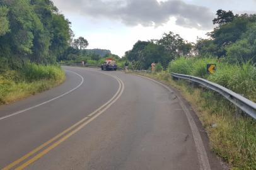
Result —
[{"label": "dense tall green trees at left, without the grass below", "polygon": [[1,0],[0,71],[54,64],[69,47],[70,24],[50,0]]}]

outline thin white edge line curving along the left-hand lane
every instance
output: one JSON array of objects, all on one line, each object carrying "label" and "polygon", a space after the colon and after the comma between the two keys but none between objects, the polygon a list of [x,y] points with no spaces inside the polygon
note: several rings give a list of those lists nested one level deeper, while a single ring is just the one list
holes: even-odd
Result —
[{"label": "thin white edge line curving along the left-hand lane", "polygon": [[[66,71],[69,71],[69,70],[66,70]],[[69,94],[69,93],[71,93],[72,91],[78,89],[78,88],[83,84],[84,78],[83,78],[80,74],[78,74],[78,73],[76,73],[76,72],[74,72],[74,71],[69,71],[69,72],[73,72],[73,74],[78,75],[78,76],[81,78],[81,80],[82,80],[82,81],[80,82],[80,84],[78,84],[78,86],[76,86],[76,88],[73,88],[73,89],[71,89],[70,91],[67,91],[66,93],[63,93],[63,94],[61,94],[60,96],[57,96],[57,97],[55,97],[55,98],[49,99],[49,100],[47,100],[47,101],[44,101],[43,103],[40,103],[40,104],[35,105],[35,106],[32,106],[32,107],[30,107],[30,108],[26,108],[25,110],[16,111],[15,113],[11,113],[10,115],[2,116],[2,117],[0,117],[0,120],[4,120],[4,119],[6,119],[6,118],[9,118],[9,117],[11,117],[11,116],[18,115],[18,114],[23,113],[23,112],[28,111],[28,110],[32,110],[33,108],[37,108],[38,106],[45,105],[46,103],[49,103],[50,101],[54,101],[55,99],[61,98],[62,96],[65,96],[66,94]]]}]

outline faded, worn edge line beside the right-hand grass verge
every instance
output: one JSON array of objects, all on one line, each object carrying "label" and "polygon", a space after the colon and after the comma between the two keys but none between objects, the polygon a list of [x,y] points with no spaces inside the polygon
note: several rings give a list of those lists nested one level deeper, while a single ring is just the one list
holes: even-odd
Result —
[{"label": "faded, worn edge line beside the right-hand grass verge", "polygon": [[[140,76],[140,75],[137,75],[137,76],[157,82],[161,86],[168,89],[168,91],[173,92],[172,89],[170,89],[165,84],[162,84],[161,82],[155,81],[154,79],[151,79],[151,78],[148,78],[145,76]],[[209,159],[207,157],[206,149],[204,148],[204,143],[202,142],[202,138],[201,138],[200,132],[197,128],[197,125],[195,124],[194,118],[191,116],[190,111],[187,109],[187,107],[183,103],[182,99],[180,99],[180,97],[178,95],[177,95],[177,98],[180,101],[180,106],[182,106],[182,110],[185,112],[185,115],[187,116],[187,120],[189,122],[190,129],[192,131],[192,135],[193,135],[194,142],[195,142],[195,148],[197,150],[197,157],[199,159],[200,169],[201,170],[211,170],[211,166],[209,163]]]}]

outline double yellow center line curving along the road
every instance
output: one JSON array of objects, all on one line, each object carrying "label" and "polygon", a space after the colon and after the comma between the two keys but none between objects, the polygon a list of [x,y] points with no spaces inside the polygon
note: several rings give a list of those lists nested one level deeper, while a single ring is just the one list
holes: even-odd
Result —
[{"label": "double yellow center line curving along the road", "polygon": [[[110,75],[108,75],[108,76],[110,76]],[[81,128],[86,126],[88,123],[93,121],[96,117],[101,115],[105,110],[107,110],[113,103],[115,103],[115,101],[117,101],[117,99],[120,98],[120,96],[122,95],[122,93],[124,91],[124,82],[122,82],[116,76],[112,76],[112,77],[114,77],[117,80],[117,82],[119,83],[119,89],[117,90],[117,93],[115,93],[115,95],[110,100],[107,101],[107,103],[100,106],[100,108],[98,108],[95,111],[93,111],[92,113],[90,113],[90,115],[84,117],[82,120],[75,123],[73,126],[67,128],[63,132],[59,133],[58,135],[56,135],[52,139],[48,140],[44,144],[40,145],[36,149],[33,149],[32,151],[28,152],[28,154],[25,154],[25,156],[21,157],[20,159],[14,161],[11,164],[9,164],[8,166],[4,167],[3,170],[13,169],[15,167],[16,167],[15,169],[17,169],[17,170],[24,169],[26,166],[28,166],[28,165],[32,164],[33,162],[37,161],[38,159],[40,159],[40,157],[42,157],[45,154],[47,154],[48,152],[50,152],[50,150],[54,149],[55,147],[57,147],[57,145],[61,144],[65,140],[67,140],[69,137],[71,137],[71,135],[73,135],[74,133],[81,130]]]}]

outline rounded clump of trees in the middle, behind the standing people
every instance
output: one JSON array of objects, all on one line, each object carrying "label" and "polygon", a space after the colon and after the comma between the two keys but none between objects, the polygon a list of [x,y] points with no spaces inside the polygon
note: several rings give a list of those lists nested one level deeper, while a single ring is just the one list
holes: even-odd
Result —
[{"label": "rounded clump of trees in the middle, behind the standing people", "polygon": [[148,69],[152,62],[159,62],[166,69],[171,60],[179,55],[189,55],[191,49],[191,43],[170,32],[164,33],[160,40],[136,42],[132,50],[125,52],[125,58],[138,62],[140,67],[137,69]]}]

